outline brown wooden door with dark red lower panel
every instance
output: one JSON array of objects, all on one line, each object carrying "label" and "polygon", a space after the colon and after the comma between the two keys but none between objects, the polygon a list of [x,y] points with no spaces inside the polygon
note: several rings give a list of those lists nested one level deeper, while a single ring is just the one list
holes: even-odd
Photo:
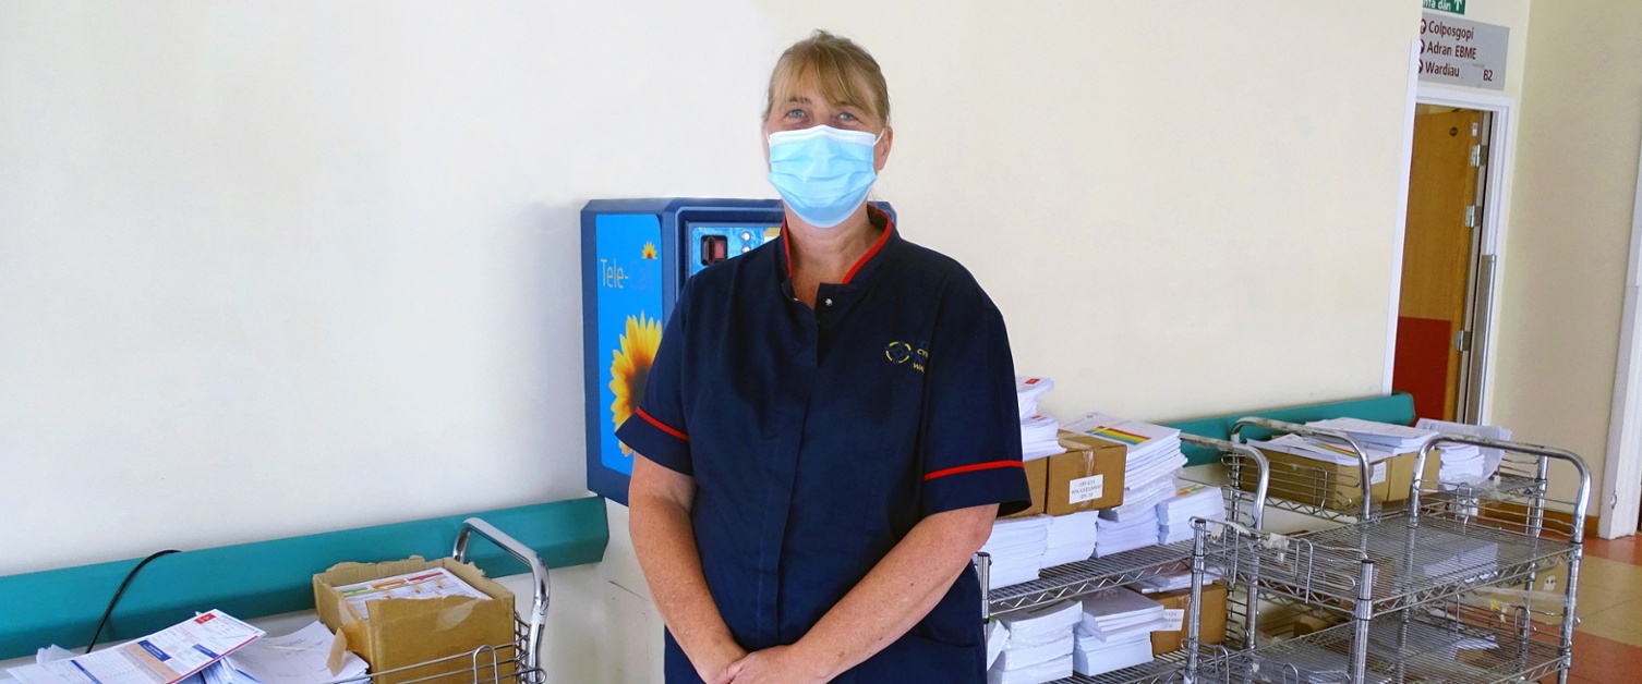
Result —
[{"label": "brown wooden door with dark red lower panel", "polygon": [[1414,118],[1391,385],[1414,394],[1422,418],[1455,418],[1465,358],[1456,338],[1466,330],[1475,226],[1481,225],[1481,207],[1473,208],[1481,126],[1483,113],[1471,110]]}]

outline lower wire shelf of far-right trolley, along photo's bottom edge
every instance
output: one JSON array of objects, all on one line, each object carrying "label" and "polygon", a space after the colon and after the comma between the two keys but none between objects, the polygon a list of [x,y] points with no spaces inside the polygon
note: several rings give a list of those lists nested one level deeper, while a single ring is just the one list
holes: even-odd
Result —
[{"label": "lower wire shelf of far-right trolley, along photo's bottom edge", "polygon": [[[1447,633],[1491,640],[1493,648],[1456,650],[1430,643],[1407,643],[1401,650],[1376,648],[1368,658],[1365,682],[1448,682],[1496,684],[1539,681],[1566,669],[1555,643],[1520,640],[1517,635],[1461,622],[1419,617],[1415,622]],[[1338,656],[1340,669],[1314,671],[1310,681],[1348,681],[1345,663],[1351,651],[1351,623],[1320,630],[1300,638],[1233,653],[1228,658],[1204,659],[1200,682],[1305,682],[1289,663],[1315,658],[1317,653]],[[1392,651],[1392,653],[1387,653]],[[1399,676],[1401,669],[1401,676]]]}]

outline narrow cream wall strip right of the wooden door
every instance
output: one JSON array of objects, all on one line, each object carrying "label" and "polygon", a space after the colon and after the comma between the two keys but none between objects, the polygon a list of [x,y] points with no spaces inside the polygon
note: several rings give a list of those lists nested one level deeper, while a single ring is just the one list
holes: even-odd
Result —
[{"label": "narrow cream wall strip right of the wooden door", "polygon": [[1601,479],[1642,144],[1642,62],[1614,48],[1642,5],[1535,2],[1532,25],[1493,420]]}]

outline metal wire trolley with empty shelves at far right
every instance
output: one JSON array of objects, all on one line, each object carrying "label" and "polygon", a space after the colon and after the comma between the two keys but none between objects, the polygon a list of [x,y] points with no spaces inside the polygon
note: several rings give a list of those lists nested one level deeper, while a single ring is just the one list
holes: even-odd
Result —
[{"label": "metal wire trolley with empty shelves at far right", "polygon": [[[1338,438],[1294,423],[1245,423]],[[1504,459],[1479,484],[1425,477],[1425,463],[1443,445],[1499,449]],[[1368,456],[1350,446],[1368,482]],[[1552,497],[1553,461],[1576,471],[1571,497]],[[1205,572],[1220,572],[1256,587],[1261,599],[1346,620],[1245,651],[1187,648],[1187,681],[1491,684],[1557,676],[1566,684],[1589,489],[1589,469],[1570,451],[1440,435],[1420,448],[1401,510],[1371,507],[1365,487],[1356,522],[1330,530],[1282,536],[1197,520],[1194,594]],[[1560,592],[1535,591],[1535,579],[1563,568]],[[1190,645],[1197,615],[1189,625]]]}]

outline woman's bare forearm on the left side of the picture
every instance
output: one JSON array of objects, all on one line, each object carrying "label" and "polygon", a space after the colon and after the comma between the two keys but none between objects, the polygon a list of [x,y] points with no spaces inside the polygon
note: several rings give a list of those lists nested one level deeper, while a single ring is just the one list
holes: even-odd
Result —
[{"label": "woman's bare forearm on the left side of the picture", "polygon": [[[647,467],[645,467],[647,466]],[[708,591],[701,572],[701,554],[690,522],[690,499],[678,497],[677,487],[647,487],[645,479],[685,477],[654,463],[634,464],[634,487],[629,492],[627,530],[639,556],[639,568],[650,586],[662,620],[678,646],[690,656],[696,673],[713,682],[731,663],[747,654],[731,636],[724,617]],[[649,477],[647,477],[649,476]],[[693,482],[686,484],[693,487]],[[677,482],[672,482],[677,484]]]}]

